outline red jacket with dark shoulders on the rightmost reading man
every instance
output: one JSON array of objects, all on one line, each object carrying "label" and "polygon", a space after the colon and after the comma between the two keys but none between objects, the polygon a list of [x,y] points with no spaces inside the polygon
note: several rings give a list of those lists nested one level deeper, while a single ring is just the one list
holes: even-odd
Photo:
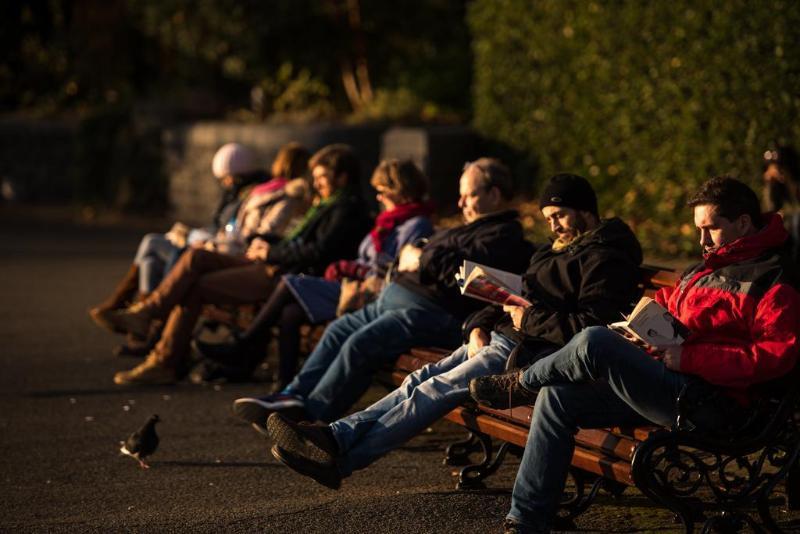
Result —
[{"label": "red jacket with dark shoulders on the rightmost reading man", "polygon": [[739,393],[785,375],[798,356],[800,294],[781,253],[788,234],[780,215],[766,218],[763,230],[705,255],[656,294],[691,331],[680,371]]}]

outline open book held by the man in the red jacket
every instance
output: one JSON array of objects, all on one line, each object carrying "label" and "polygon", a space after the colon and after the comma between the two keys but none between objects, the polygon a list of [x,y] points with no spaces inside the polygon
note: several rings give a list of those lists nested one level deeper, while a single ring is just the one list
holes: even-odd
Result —
[{"label": "open book held by the man in the red jacket", "polygon": [[627,321],[611,323],[608,327],[632,334],[653,347],[680,345],[689,337],[686,325],[650,297],[642,297]]}]

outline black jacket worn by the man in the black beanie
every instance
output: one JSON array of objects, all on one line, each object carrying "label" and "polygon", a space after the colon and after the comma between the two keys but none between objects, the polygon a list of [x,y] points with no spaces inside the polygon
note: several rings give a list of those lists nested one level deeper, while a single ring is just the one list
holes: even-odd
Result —
[{"label": "black jacket worn by the man in the black beanie", "polygon": [[526,345],[563,346],[587,326],[622,319],[620,314],[641,295],[641,262],[639,241],[616,218],[560,251],[544,245],[523,276],[525,296],[533,305],[525,310],[520,330],[501,308],[489,306],[469,318],[465,335],[480,327]]}]

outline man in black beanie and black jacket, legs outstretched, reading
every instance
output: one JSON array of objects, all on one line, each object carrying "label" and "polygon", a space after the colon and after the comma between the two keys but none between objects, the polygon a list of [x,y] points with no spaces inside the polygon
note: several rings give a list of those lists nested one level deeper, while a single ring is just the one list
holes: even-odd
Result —
[{"label": "man in black beanie and black jacket, legs outstretched, reading", "polygon": [[467,343],[411,373],[366,410],[330,425],[297,424],[274,413],[267,429],[272,454],[330,488],[402,445],[469,397],[472,378],[502,372],[514,348],[542,357],[586,326],[607,324],[639,294],[639,242],[619,219],[601,221],[591,185],[559,174],[540,205],[554,234],[537,248],[523,275],[526,308],[489,306],[465,322]]}]

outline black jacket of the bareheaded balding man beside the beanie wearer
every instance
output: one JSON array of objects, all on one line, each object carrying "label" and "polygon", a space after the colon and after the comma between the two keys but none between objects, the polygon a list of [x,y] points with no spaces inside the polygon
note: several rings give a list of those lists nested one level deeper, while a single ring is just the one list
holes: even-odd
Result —
[{"label": "black jacket of the bareheaded balding man beside the beanie wearer", "polygon": [[419,270],[400,273],[395,282],[463,319],[483,306],[458,289],[455,275],[464,260],[513,273],[525,269],[533,246],[525,241],[518,217],[516,211],[503,211],[437,232],[422,248]]}]

